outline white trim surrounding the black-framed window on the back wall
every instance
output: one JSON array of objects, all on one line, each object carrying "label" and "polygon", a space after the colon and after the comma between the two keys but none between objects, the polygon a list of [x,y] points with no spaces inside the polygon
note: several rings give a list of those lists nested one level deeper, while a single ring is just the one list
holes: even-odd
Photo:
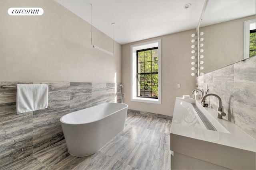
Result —
[{"label": "white trim surrounding the black-framed window on the back wall", "polygon": [[[137,97],[137,50],[158,47],[158,99]],[[131,101],[161,104],[161,39],[131,45]]]}]

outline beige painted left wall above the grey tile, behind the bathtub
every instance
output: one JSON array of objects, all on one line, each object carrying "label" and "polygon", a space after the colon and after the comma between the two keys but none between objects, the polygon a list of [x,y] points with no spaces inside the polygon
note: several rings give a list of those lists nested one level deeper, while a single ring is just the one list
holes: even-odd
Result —
[{"label": "beige painted left wall above the grey tile, behind the bathtub", "polygon": [[[9,16],[11,7],[44,14]],[[1,0],[0,21],[0,81],[121,82],[121,45],[114,56],[93,49],[90,24],[54,0]],[[112,52],[113,40],[92,32],[93,43]]]}]

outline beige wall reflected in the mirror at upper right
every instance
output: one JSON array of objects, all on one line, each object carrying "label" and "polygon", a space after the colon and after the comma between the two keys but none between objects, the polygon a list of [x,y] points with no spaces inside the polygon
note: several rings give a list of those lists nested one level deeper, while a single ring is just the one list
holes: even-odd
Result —
[{"label": "beige wall reflected in the mirror at upper right", "polygon": [[204,41],[204,74],[244,59],[244,21],[255,16],[200,27]]}]

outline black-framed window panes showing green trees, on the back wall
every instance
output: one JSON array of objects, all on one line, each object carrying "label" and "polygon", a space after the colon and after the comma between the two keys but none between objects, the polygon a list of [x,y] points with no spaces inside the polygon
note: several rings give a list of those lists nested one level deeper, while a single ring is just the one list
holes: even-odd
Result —
[{"label": "black-framed window panes showing green trees, on the back wall", "polygon": [[158,98],[158,47],[137,51],[137,97]]}]

